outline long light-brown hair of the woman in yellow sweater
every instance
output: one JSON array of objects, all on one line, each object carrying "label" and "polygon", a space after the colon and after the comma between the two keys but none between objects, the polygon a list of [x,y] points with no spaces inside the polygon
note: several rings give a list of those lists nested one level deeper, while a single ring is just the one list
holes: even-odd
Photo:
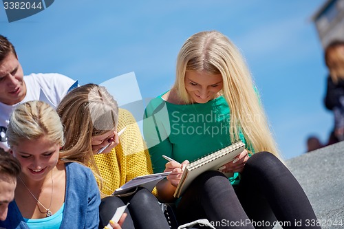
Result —
[{"label": "long light-brown hair of the woman in yellow sweater", "polygon": [[94,160],[92,137],[117,128],[116,100],[105,87],[87,84],[70,91],[56,111],[65,127],[66,142],[61,159],[91,167],[101,190],[103,179]]}]

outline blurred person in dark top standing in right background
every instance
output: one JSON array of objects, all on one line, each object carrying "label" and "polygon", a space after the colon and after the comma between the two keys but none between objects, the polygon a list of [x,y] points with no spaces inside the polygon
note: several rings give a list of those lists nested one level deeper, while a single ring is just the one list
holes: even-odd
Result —
[{"label": "blurred person in dark top standing in right background", "polygon": [[329,70],[325,107],[334,113],[334,131],[329,144],[344,140],[344,41],[332,41],[325,48]]}]

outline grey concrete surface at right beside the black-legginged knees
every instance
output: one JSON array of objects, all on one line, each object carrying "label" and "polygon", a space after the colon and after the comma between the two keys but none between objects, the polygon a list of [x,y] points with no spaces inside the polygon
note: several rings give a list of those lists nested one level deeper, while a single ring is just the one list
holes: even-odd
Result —
[{"label": "grey concrete surface at right beside the black-legginged knees", "polygon": [[[286,161],[323,229],[344,228],[344,142]],[[335,225],[337,224],[337,225]],[[281,227],[276,226],[274,229]]]}]

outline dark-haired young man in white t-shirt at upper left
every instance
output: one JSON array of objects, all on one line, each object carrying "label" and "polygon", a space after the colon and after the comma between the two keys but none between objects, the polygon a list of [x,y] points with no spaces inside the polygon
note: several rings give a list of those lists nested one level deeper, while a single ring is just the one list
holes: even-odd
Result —
[{"label": "dark-haired young man in white t-shirt at upper left", "polygon": [[24,76],[14,46],[0,35],[0,148],[8,151],[6,130],[10,113],[19,103],[43,100],[56,107],[78,81],[61,74]]}]

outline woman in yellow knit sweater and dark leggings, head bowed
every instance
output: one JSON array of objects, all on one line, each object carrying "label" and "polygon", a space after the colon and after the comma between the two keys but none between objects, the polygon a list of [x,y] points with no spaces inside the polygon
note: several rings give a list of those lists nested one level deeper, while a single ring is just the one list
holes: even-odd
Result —
[{"label": "woman in yellow knit sweater and dark leggings, head bowed", "polygon": [[65,126],[62,157],[90,166],[98,179],[103,195],[99,227],[107,225],[116,208],[130,202],[122,228],[169,228],[158,199],[149,190],[142,188],[127,197],[109,196],[130,179],[152,173],[149,153],[131,113],[118,109],[107,89],[95,84],[70,91],[57,112]]}]

